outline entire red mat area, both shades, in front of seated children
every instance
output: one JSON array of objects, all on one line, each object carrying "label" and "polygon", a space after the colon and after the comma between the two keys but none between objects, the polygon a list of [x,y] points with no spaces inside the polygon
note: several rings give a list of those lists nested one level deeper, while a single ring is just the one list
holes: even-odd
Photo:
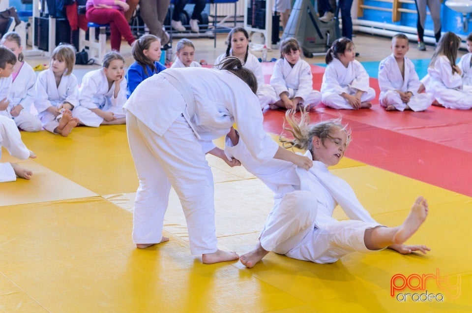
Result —
[{"label": "entire red mat area, both shades, in front of seated children", "polygon": [[[268,70],[269,67],[265,68]],[[312,65],[320,89],[324,68]],[[269,76],[270,78],[270,76]],[[377,97],[369,110],[333,110],[320,105],[312,121],[342,117],[353,130],[346,156],[438,187],[472,196],[472,111],[430,107],[425,112],[387,112]],[[266,131],[282,132],[284,111],[265,112]]]}]

